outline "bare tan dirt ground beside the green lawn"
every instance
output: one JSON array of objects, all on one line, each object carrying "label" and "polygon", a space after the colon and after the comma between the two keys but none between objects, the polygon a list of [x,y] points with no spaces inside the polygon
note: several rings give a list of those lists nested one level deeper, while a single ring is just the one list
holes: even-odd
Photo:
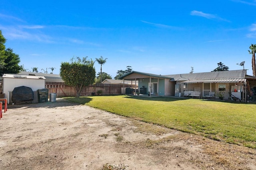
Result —
[{"label": "bare tan dirt ground beside the green lawn", "polygon": [[0,120],[0,169],[255,170],[256,150],[92,107],[9,105]]}]

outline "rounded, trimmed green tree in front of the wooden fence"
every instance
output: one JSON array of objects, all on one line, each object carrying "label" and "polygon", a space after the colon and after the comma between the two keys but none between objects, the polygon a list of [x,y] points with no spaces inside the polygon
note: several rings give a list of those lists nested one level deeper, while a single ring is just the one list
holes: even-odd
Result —
[{"label": "rounded, trimmed green tree in front of the wooden fence", "polygon": [[80,93],[86,86],[94,83],[95,80],[94,61],[89,61],[87,57],[82,60],[74,57],[68,62],[62,62],[60,66],[60,76],[68,86],[76,89],[76,97],[80,97]]}]

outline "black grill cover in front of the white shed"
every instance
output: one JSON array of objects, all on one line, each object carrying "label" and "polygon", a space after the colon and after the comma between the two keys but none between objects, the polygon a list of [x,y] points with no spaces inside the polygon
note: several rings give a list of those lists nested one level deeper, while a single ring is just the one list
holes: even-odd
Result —
[{"label": "black grill cover in front of the white shed", "polygon": [[34,92],[32,88],[26,86],[16,87],[12,90],[12,102],[23,102],[34,100]]}]

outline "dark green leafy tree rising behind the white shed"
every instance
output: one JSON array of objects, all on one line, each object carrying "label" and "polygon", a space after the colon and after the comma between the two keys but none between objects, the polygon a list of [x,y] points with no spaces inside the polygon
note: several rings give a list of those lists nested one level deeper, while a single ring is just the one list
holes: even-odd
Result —
[{"label": "dark green leafy tree rising behind the white shed", "polygon": [[18,65],[20,63],[19,55],[13,53],[13,50],[10,48],[5,50],[4,56],[1,57],[1,61],[4,61],[4,64],[0,69],[1,76],[5,73],[17,74],[22,69],[22,66]]}]

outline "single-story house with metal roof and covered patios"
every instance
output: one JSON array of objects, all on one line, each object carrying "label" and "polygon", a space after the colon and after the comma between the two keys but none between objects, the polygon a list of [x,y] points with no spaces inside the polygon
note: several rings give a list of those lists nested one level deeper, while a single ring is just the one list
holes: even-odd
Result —
[{"label": "single-story house with metal roof and covered patios", "polygon": [[256,88],[256,77],[247,75],[246,70],[170,75],[132,71],[121,76],[120,79],[138,80],[139,88],[146,87],[150,96],[183,96],[185,91],[196,91],[200,92],[203,98],[209,92],[222,91],[224,92],[224,99],[227,99],[236,90],[244,92],[246,87],[251,93],[251,89]]}]

